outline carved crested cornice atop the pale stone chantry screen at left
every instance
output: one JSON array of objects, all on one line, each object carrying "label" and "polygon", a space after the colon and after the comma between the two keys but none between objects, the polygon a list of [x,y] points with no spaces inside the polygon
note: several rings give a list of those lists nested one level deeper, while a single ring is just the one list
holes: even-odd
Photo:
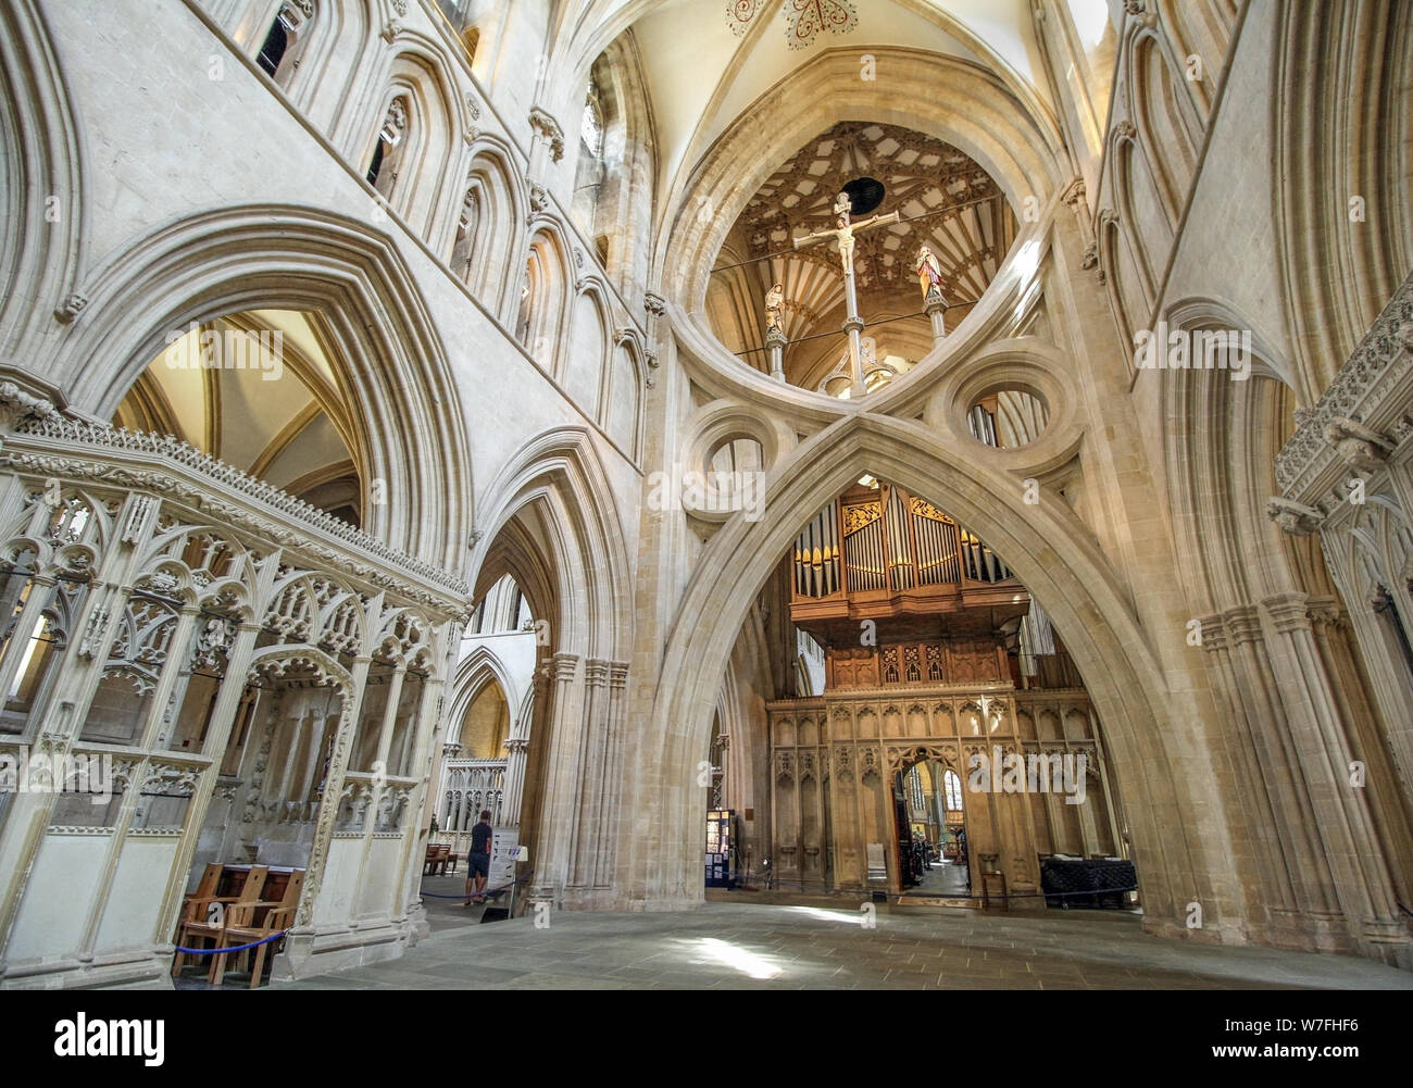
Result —
[{"label": "carved crested cornice atop the pale stone chantry screen at left", "polygon": [[21,471],[160,492],[444,612],[459,613],[471,598],[471,586],[449,572],[170,435],[49,413],[24,421],[7,439],[3,459]]}]

